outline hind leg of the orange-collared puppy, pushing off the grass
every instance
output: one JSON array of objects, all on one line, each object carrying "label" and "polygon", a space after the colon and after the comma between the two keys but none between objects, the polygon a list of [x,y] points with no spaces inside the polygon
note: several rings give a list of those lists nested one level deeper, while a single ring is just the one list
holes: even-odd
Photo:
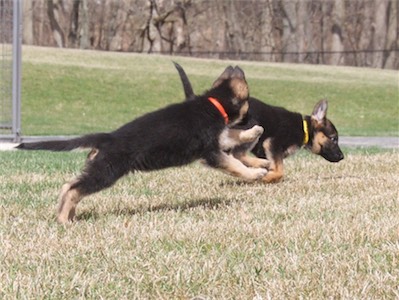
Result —
[{"label": "hind leg of the orange-collared puppy, pushing off the grass", "polygon": [[57,220],[67,223],[75,217],[76,206],[83,197],[112,186],[128,172],[126,161],[99,152],[88,159],[82,174],[64,184],[59,197]]}]

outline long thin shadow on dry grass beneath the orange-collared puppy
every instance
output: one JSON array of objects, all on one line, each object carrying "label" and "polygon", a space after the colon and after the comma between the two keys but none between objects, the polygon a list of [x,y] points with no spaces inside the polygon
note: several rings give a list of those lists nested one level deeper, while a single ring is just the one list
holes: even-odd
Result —
[{"label": "long thin shadow on dry grass beneath the orange-collared puppy", "polygon": [[201,198],[176,204],[165,203],[155,206],[146,206],[139,208],[117,208],[105,213],[98,213],[95,211],[94,208],[90,211],[83,211],[76,217],[76,220],[77,221],[97,220],[101,217],[109,215],[133,216],[137,214],[142,215],[151,212],[166,212],[166,211],[184,212],[197,207],[201,207],[204,209],[218,209],[221,206],[229,206],[232,202],[234,202],[234,200],[224,199],[224,198]]}]

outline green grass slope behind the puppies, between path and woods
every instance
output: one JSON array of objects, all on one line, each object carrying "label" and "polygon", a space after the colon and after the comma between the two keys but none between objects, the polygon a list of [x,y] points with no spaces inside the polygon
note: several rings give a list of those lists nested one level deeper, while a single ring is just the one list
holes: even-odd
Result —
[{"label": "green grass slope behind the puppies, between path and woods", "polygon": [[146,54],[27,47],[23,49],[23,135],[110,131],[184,98],[172,60],[194,89],[209,89],[240,65],[252,96],[310,114],[321,98],[341,135],[398,136],[398,72],[320,65],[220,61]]}]

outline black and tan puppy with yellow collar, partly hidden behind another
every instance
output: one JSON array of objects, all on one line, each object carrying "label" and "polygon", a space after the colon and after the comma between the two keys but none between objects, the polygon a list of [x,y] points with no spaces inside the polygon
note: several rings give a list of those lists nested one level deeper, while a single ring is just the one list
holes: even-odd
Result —
[{"label": "black and tan puppy with yellow collar, partly hidden behind another", "polygon": [[[183,83],[186,99],[195,100],[191,83],[183,68],[175,63]],[[283,159],[301,147],[321,155],[330,162],[344,158],[338,146],[338,132],[334,124],[327,119],[327,101],[319,101],[311,115],[302,116],[282,107],[268,105],[256,98],[248,100],[249,110],[246,122],[230,129],[240,130],[249,125],[258,124],[264,132],[257,143],[248,143],[231,150],[234,157],[247,166],[264,167],[267,159],[269,172],[264,176],[265,182],[278,182],[283,177]],[[248,155],[251,150],[256,157]]]}]

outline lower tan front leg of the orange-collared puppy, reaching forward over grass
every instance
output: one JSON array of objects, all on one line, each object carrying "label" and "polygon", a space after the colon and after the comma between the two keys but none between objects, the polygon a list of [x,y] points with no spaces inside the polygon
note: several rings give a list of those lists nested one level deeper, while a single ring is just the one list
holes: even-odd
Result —
[{"label": "lower tan front leg of the orange-collared puppy, reaching forward over grass", "polygon": [[267,170],[264,168],[248,168],[241,161],[231,154],[220,152],[217,157],[217,163],[207,161],[209,165],[222,169],[226,173],[240,177],[246,181],[254,181],[263,178]]}]

